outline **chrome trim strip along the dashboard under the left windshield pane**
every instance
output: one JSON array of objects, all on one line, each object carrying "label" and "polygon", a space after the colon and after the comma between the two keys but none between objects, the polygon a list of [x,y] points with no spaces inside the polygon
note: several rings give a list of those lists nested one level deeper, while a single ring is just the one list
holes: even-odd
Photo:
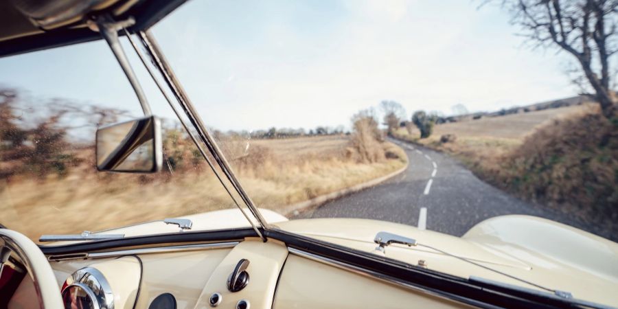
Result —
[{"label": "chrome trim strip along the dashboard under the left windshield pane", "polygon": [[225,249],[233,248],[239,242],[211,242],[207,244],[181,244],[178,246],[167,247],[150,247],[150,248],[138,248],[138,249],[126,249],[117,251],[106,252],[93,252],[93,253],[71,253],[66,255],[49,255],[47,260],[49,261],[65,261],[65,260],[86,260],[97,258],[113,258],[123,255],[134,254],[154,254],[154,253],[172,253],[181,251],[199,251],[205,249]]}]

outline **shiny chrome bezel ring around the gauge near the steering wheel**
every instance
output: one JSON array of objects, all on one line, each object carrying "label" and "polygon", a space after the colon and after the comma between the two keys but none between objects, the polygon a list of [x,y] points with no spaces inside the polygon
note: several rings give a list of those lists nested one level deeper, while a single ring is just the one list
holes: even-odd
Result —
[{"label": "shiny chrome bezel ring around the gauge near the steering wheel", "polygon": [[113,309],[114,293],[105,276],[93,267],[84,267],[72,273],[65,281],[65,288],[62,288],[62,295],[71,286],[82,288],[89,297],[95,309]]}]

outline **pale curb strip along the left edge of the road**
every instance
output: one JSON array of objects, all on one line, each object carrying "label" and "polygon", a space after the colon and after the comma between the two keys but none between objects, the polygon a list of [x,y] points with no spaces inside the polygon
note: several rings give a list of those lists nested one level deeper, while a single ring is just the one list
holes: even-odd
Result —
[{"label": "pale curb strip along the left edge of the road", "polygon": [[400,168],[399,170],[396,170],[395,172],[391,172],[390,174],[386,174],[385,176],[381,176],[379,178],[376,179],[371,179],[370,181],[366,181],[365,183],[359,183],[358,185],[353,185],[352,187],[347,187],[345,189],[339,190],[339,191],[335,191],[335,192],[331,192],[329,194],[324,194],[321,196],[317,196],[314,198],[311,198],[307,201],[302,201],[299,203],[295,203],[292,205],[288,205],[286,207],[284,207],[283,211],[281,212],[284,216],[289,217],[289,216],[294,216],[297,214],[297,212],[311,208],[311,207],[317,207],[319,205],[322,205],[323,203],[326,203],[328,201],[332,201],[336,198],[341,198],[342,196],[346,196],[348,194],[352,194],[354,192],[358,192],[364,189],[367,189],[368,187],[373,187],[374,185],[378,185],[379,183],[382,183],[384,181],[387,181],[391,178],[393,178],[394,176],[397,176],[398,174],[401,174],[402,172],[404,172],[405,170],[408,169],[408,165],[409,165],[409,159],[406,161],[406,164]]}]

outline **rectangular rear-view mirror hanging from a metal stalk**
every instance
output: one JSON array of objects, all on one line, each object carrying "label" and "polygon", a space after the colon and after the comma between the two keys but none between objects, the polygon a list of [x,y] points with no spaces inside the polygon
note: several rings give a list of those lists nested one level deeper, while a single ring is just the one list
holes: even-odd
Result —
[{"label": "rectangular rear-view mirror hanging from a metal stalk", "polygon": [[163,162],[161,122],[155,116],[103,126],[97,130],[97,170],[159,172]]}]

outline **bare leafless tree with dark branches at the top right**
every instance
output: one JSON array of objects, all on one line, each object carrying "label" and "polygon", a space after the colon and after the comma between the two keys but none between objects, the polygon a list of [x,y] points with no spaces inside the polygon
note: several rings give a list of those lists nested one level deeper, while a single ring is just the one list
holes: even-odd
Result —
[{"label": "bare leafless tree with dark branches at the top right", "polygon": [[[603,115],[616,115],[617,95],[612,62],[618,52],[616,0],[501,0],[538,47],[554,47],[577,61],[577,78],[585,95],[594,98]],[[587,81],[587,83],[586,83]]]}]

